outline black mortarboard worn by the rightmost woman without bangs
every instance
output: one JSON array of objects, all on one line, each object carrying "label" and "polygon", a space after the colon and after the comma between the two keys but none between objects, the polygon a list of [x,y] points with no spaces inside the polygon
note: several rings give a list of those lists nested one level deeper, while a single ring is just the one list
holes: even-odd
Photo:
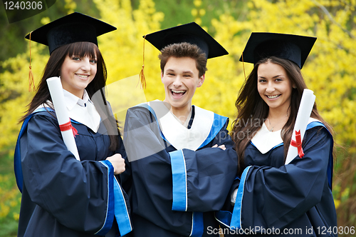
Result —
[{"label": "black mortarboard worn by the rightmost woman without bangs", "polygon": [[316,38],[310,36],[253,32],[240,61],[256,64],[268,56],[276,56],[293,61],[302,69],[315,41]]}]

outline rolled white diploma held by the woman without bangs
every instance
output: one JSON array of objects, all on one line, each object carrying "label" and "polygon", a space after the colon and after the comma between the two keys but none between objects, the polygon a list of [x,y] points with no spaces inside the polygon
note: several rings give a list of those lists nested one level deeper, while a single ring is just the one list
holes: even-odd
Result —
[{"label": "rolled white diploma held by the woman without bangs", "polygon": [[[308,126],[308,121],[310,118],[311,111],[313,110],[315,102],[314,92],[308,89],[304,89],[302,99],[300,100],[300,106],[297,114],[297,119],[295,119],[295,125],[293,129],[292,139],[295,141],[295,131],[300,131],[300,138],[303,142],[303,137],[305,133],[305,129]],[[298,148],[295,146],[289,145],[286,164],[290,163],[290,161],[298,156]]]}]

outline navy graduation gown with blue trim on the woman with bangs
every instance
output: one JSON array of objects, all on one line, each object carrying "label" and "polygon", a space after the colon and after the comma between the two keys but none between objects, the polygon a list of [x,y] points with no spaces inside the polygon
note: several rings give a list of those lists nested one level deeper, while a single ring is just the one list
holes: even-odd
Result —
[{"label": "navy graduation gown with blue trim on the woman with bangs", "polygon": [[71,121],[80,161],[66,148],[54,113],[38,109],[23,123],[15,151],[18,236],[120,236],[130,228],[117,228],[117,220],[130,224],[130,206],[105,161],[114,153],[126,156],[120,136],[120,149],[110,151],[103,123],[95,133]]}]

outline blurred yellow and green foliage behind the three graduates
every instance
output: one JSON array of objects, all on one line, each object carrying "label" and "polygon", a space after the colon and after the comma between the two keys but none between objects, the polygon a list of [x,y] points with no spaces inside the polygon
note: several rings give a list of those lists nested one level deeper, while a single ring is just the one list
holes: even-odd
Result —
[{"label": "blurred yellow and green foliage behind the three graduates", "polygon": [[[302,73],[308,88],[315,92],[320,114],[335,129],[335,141],[345,147],[337,148],[334,174],[338,225],[356,226],[355,6],[356,0],[65,0],[14,24],[8,24],[0,11],[0,236],[16,236],[19,219],[21,195],[12,159],[21,126],[17,121],[33,96],[28,92],[29,50],[23,36],[74,10],[117,27],[98,41],[108,67],[109,100],[114,107],[121,105],[115,107],[121,120],[124,116],[120,111],[132,106],[132,101],[164,99],[159,52],[147,42],[147,88],[140,91],[136,87],[145,34],[196,21],[229,51],[228,56],[209,59],[206,80],[193,103],[229,116],[230,121],[236,116],[234,102],[245,74],[252,69],[251,64],[239,62],[252,31],[317,36]],[[47,60],[48,49],[31,44],[36,83]],[[117,84],[125,81],[120,79],[130,83]]]}]

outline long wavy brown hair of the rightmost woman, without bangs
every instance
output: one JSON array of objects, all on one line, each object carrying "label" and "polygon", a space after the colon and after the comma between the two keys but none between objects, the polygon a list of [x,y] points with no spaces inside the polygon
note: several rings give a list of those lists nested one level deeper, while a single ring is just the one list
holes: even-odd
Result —
[{"label": "long wavy brown hair of the rightmost woman, without bangs", "polygon": [[[292,89],[292,94],[290,96],[290,106],[288,108],[289,119],[281,131],[281,137],[284,144],[285,160],[288,152],[290,138],[292,137],[293,133],[295,119],[298,114],[303,90],[307,89],[298,65],[294,64],[292,61],[281,59],[276,56],[271,56],[266,59],[261,59],[261,61],[258,61],[255,64],[251,74],[248,76],[245,84],[239,91],[239,96],[235,103],[237,109],[237,118],[232,123],[231,137],[236,143],[235,148],[239,157],[239,176],[241,176],[241,173],[245,168],[244,151],[248,143],[251,141],[251,138],[253,138],[253,136],[258,132],[268,116],[269,107],[258,94],[257,90],[258,66],[267,62],[283,66],[283,68],[286,70],[288,78],[290,79],[291,85],[295,86],[295,88]],[[333,133],[333,128],[319,115],[316,104],[314,104],[313,111],[310,116],[321,121],[326,126],[326,128],[328,128],[330,133]]]}]

